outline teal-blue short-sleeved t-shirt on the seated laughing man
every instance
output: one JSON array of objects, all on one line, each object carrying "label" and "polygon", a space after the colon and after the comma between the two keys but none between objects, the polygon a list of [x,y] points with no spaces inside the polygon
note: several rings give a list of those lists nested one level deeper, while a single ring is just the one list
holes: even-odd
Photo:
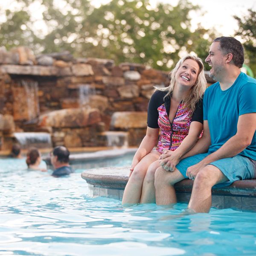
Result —
[{"label": "teal-blue short-sleeved t-shirt on the seated laughing man", "polygon": [[[219,82],[212,84],[205,91],[203,108],[204,120],[209,124],[209,152],[212,153],[236,134],[239,116],[256,112],[256,79],[241,72],[227,90],[221,90]],[[256,160],[256,133],[252,143],[239,154]]]}]

